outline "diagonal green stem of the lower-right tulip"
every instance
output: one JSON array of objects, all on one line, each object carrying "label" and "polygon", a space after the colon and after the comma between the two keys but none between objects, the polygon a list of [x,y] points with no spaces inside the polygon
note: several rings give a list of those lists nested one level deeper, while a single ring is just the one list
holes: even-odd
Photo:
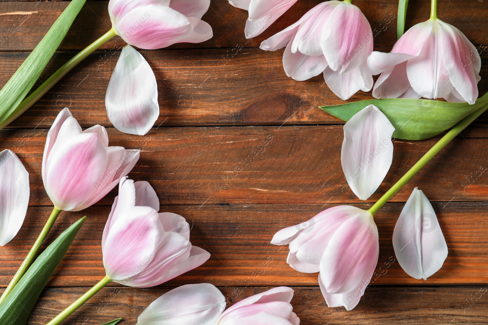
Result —
[{"label": "diagonal green stem of the lower-right tulip", "polygon": [[396,192],[398,192],[407,182],[412,179],[417,172],[419,172],[427,163],[439,153],[446,145],[461,133],[466,127],[471,124],[478,116],[488,109],[488,104],[482,106],[477,111],[474,111],[470,115],[463,118],[458,124],[456,124],[446,135],[444,135],[420,160],[413,165],[410,170],[403,175],[398,182],[395,183],[379,200],[376,202],[368,212],[374,215]]}]

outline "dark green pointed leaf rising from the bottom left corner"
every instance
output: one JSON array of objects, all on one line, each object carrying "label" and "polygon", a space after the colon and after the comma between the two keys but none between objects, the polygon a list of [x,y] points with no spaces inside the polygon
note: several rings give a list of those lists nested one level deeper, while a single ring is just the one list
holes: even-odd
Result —
[{"label": "dark green pointed leaf rising from the bottom left corner", "polygon": [[60,264],[85,218],[82,217],[64,230],[22,276],[12,292],[0,304],[0,324],[27,324],[30,312],[39,298],[42,288]]}]

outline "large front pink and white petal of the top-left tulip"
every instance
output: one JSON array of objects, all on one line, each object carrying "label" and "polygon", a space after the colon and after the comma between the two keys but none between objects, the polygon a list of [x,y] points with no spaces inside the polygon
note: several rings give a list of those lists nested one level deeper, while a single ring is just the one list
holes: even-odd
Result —
[{"label": "large front pink and white petal of the top-left tulip", "polygon": [[146,50],[160,49],[191,35],[193,26],[183,14],[168,7],[136,7],[114,26],[128,44]]}]

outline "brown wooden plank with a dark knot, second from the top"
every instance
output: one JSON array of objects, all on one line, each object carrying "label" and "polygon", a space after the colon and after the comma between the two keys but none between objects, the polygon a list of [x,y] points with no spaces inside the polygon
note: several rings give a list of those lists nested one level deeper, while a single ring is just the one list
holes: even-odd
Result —
[{"label": "brown wooden plank with a dark knot, second from the top", "polygon": [[[322,75],[307,81],[287,77],[282,65],[283,50],[243,49],[229,59],[224,59],[225,51],[142,51],[159,85],[161,113],[155,127],[343,123],[318,107],[344,101],[330,91]],[[70,107],[81,125],[111,126],[105,110],[105,91],[119,52],[98,52],[85,59],[9,127],[50,127],[63,107]],[[27,55],[26,52],[0,52],[0,86]],[[55,55],[41,80],[47,79],[73,55],[72,52]],[[483,64],[488,64],[488,57]],[[485,94],[488,69],[482,69],[481,76],[478,88],[480,94]],[[359,91],[349,101],[371,98],[371,93]],[[488,114],[480,121],[486,124]]]}]

